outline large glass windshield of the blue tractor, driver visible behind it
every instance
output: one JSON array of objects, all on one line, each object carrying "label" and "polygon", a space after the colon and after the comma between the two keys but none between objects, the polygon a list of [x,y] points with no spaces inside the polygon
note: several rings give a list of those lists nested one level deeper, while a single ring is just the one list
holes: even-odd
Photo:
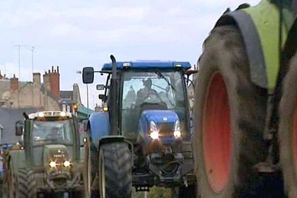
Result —
[{"label": "large glass windshield of the blue tractor, driver visible behind it", "polygon": [[122,132],[135,137],[140,106],[150,103],[174,110],[181,122],[186,119],[186,99],[179,71],[125,72],[122,89]]}]

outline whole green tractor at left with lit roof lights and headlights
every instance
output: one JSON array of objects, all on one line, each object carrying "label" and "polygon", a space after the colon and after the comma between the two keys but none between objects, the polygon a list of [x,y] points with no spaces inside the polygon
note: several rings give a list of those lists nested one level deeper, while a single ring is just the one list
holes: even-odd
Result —
[{"label": "whole green tractor at left with lit roof lights and headlights", "polygon": [[20,144],[4,155],[7,198],[83,197],[83,147],[77,119],[65,111],[25,114],[16,122]]}]

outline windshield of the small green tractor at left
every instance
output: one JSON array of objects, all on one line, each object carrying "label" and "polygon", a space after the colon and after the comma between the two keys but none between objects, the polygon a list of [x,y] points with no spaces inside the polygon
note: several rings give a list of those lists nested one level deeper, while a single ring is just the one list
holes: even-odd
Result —
[{"label": "windshield of the small green tractor at left", "polygon": [[32,131],[33,146],[45,144],[73,144],[70,120],[34,121]]}]

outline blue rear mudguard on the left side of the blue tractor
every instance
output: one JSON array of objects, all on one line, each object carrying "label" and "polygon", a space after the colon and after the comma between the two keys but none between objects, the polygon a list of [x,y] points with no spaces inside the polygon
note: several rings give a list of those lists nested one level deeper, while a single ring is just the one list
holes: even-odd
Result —
[{"label": "blue rear mudguard on the left side of the blue tractor", "polygon": [[99,149],[99,140],[109,135],[110,124],[108,112],[93,113],[89,118],[91,141]]}]

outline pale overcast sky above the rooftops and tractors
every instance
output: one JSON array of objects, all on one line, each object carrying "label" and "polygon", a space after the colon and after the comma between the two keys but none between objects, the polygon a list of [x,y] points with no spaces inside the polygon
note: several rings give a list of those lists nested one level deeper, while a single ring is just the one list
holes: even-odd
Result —
[{"label": "pale overcast sky above the rooftops and tractors", "polygon": [[[0,0],[0,70],[18,76],[21,47],[22,81],[32,81],[51,65],[60,66],[61,90],[80,85],[76,71],[100,69],[113,53],[117,60],[177,60],[196,64],[202,42],[227,7],[259,0]],[[104,78],[96,76],[96,83]],[[90,88],[90,104],[99,103]]]}]

